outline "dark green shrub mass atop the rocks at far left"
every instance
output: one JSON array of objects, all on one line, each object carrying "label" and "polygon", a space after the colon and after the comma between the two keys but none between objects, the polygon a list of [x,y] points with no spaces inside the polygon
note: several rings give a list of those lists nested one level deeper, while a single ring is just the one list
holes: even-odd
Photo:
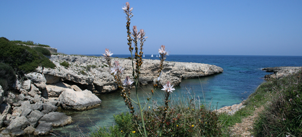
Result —
[{"label": "dark green shrub mass atop the rocks at far left", "polygon": [[11,66],[21,76],[24,73],[34,71],[39,66],[55,68],[55,64],[42,53],[28,46],[16,45],[4,39],[0,39],[0,60]]}]

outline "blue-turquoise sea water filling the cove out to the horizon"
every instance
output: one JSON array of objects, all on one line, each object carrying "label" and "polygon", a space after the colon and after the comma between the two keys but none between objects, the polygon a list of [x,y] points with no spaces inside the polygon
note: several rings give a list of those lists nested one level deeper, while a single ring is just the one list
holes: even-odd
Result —
[{"label": "blue-turquoise sea water filling the cove out to the horizon", "polygon": [[[89,55],[101,56],[101,55]],[[114,58],[128,58],[131,55],[112,55]],[[159,60],[145,55],[143,59]],[[192,62],[216,65],[223,68],[223,72],[211,76],[182,79],[179,86],[171,93],[171,100],[178,101],[182,97],[194,97],[207,104],[211,109],[220,109],[224,106],[239,104],[253,93],[257,87],[265,82],[264,76],[271,74],[261,70],[267,67],[302,66],[302,56],[246,56],[246,55],[169,55],[166,61]],[[152,85],[140,86],[139,98],[146,103]],[[132,91],[135,95],[135,91]],[[100,94],[102,100],[99,107],[86,111],[64,111],[71,116],[73,123],[60,128],[54,128],[56,136],[89,136],[90,132],[99,127],[114,125],[113,115],[128,112],[119,91]],[[164,92],[157,89],[152,97],[152,102],[162,103]],[[151,105],[153,103],[150,103]],[[150,105],[149,104],[149,105]]]}]

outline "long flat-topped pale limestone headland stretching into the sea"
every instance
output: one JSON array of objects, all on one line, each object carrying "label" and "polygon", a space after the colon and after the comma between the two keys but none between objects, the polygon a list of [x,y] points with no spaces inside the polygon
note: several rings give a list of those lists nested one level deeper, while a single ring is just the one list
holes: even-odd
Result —
[{"label": "long flat-topped pale limestone headland stretching into the sea", "polygon": [[[109,71],[110,68],[106,65],[103,57],[52,55],[50,59],[57,67],[54,69],[44,68],[43,70],[39,68],[38,71],[41,71],[44,75],[52,75],[56,78],[59,77],[63,81],[67,80],[80,84],[82,86],[78,85],[80,88],[83,89],[84,87],[84,89],[90,91],[110,92],[117,90]],[[119,62],[120,66],[125,68],[122,78],[132,75],[131,60],[112,58],[111,64],[113,64],[115,60]],[[69,63],[68,68],[60,66],[60,63],[63,61]],[[152,83],[153,80],[157,78],[159,64],[159,60],[143,59],[139,83],[142,85]],[[223,69],[215,65],[165,62],[161,78],[165,79],[164,81],[173,80],[172,83],[176,86],[179,85],[183,78],[201,77],[221,72],[223,72]]]}]

